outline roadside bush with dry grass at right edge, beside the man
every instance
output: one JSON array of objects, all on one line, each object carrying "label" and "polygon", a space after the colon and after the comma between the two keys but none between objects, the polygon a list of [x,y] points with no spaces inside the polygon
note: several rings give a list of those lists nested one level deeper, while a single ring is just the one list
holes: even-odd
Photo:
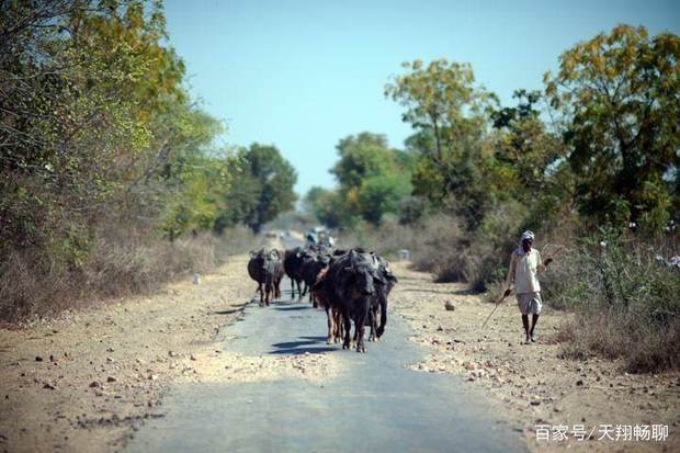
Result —
[{"label": "roadside bush with dry grass at right edge, beside the man", "polygon": [[564,353],[622,359],[631,372],[680,367],[680,268],[672,238],[644,244],[603,231],[548,273],[547,297],[577,313],[563,327]]}]

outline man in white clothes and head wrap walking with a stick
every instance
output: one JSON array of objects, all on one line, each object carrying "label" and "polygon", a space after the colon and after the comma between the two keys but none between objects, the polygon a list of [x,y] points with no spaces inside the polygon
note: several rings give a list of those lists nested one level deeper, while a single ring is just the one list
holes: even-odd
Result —
[{"label": "man in white clothes and head wrap walking with a stick", "polygon": [[[520,246],[514,249],[510,257],[510,269],[508,270],[506,293],[503,294],[503,297],[509,296],[514,285],[514,293],[522,314],[522,325],[524,326],[524,333],[526,333],[526,343],[536,341],[534,329],[543,306],[537,274],[545,271],[545,268],[553,261],[551,258],[542,261],[541,253],[532,247],[533,244],[534,234],[530,230],[522,233]],[[529,326],[530,314],[532,315],[531,328]]]}]

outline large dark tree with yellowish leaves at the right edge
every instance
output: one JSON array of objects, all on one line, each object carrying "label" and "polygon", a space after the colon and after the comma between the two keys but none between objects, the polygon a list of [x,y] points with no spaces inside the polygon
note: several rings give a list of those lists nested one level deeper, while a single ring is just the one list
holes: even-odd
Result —
[{"label": "large dark tree with yellowish leaves at the right edge", "polygon": [[545,75],[582,213],[666,225],[680,163],[679,60],[677,35],[619,25],[563,53],[557,75]]}]

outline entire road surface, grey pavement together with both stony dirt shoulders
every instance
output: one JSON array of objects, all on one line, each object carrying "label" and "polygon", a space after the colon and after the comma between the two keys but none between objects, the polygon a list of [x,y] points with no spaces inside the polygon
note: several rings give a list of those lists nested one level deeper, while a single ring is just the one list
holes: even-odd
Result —
[{"label": "entire road surface, grey pavement together with both stony dirt shoulders", "polygon": [[[287,281],[280,303],[253,304],[246,263],[0,329],[0,452],[680,450],[678,373],[564,359],[564,314],[523,346],[515,307],[480,330],[481,297],[395,263],[385,337],[358,354],[325,343],[325,313]],[[537,443],[539,423],[669,437]]]}]

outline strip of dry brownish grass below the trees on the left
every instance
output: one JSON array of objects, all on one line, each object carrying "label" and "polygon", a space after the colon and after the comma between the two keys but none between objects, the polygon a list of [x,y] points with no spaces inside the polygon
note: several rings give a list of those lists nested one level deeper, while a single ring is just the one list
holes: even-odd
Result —
[{"label": "strip of dry brownish grass below the trees on the left", "polygon": [[49,316],[93,301],[148,293],[182,274],[207,273],[254,242],[238,228],[222,237],[201,234],[173,242],[138,230],[99,231],[82,265],[46,262],[14,251],[0,262],[0,320]]}]

